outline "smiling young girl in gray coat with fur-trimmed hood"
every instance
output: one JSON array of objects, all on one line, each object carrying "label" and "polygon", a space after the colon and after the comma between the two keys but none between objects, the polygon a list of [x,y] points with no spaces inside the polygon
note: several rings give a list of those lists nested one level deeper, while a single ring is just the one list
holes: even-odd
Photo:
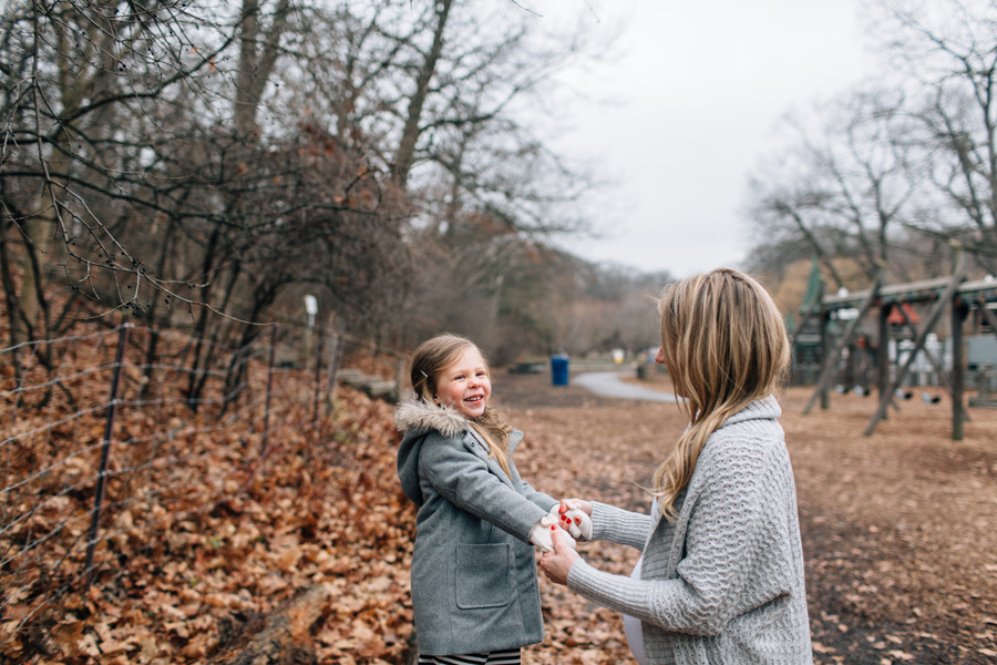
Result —
[{"label": "smiling young girl in gray coat with fur-trimmed hood", "polygon": [[516,472],[512,452],[523,434],[489,406],[489,367],[473,342],[424,341],[411,379],[415,399],[399,407],[395,423],[405,432],[398,477],[419,507],[419,663],[520,663],[520,648],[544,638],[530,543],[553,549],[547,514],[558,502]]}]

